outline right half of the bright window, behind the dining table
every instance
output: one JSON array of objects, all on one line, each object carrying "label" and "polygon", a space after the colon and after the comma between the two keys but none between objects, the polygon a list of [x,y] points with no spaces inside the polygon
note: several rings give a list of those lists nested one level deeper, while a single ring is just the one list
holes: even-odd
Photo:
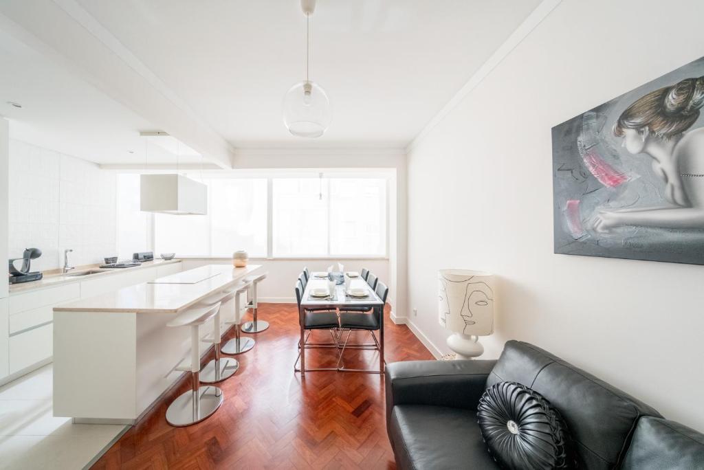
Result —
[{"label": "right half of the bright window, behind the dining table", "polygon": [[385,256],[386,179],[273,180],[274,256]]}]

